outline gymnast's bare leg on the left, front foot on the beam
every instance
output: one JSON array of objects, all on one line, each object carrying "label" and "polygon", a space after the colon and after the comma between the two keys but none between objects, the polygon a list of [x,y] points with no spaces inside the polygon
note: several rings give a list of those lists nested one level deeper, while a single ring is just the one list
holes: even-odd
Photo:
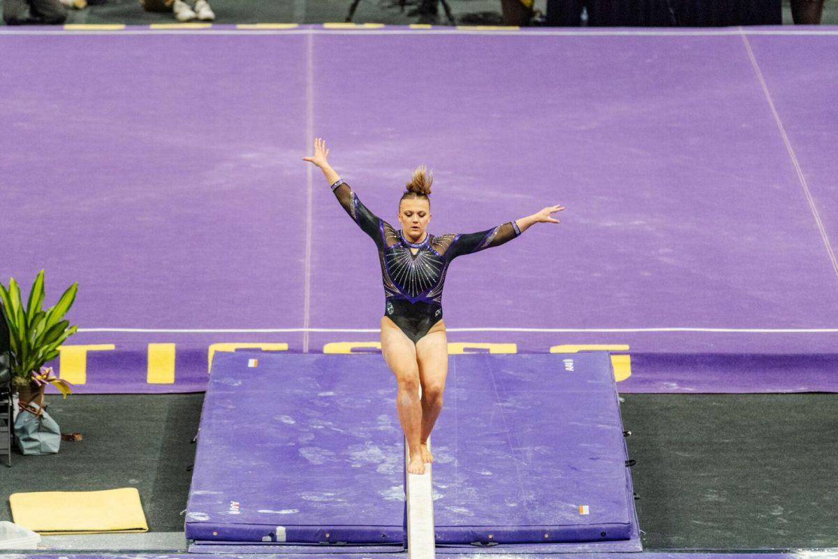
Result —
[{"label": "gymnast's bare leg on the left, front foot on the beam", "polygon": [[390,318],[381,317],[381,353],[393,374],[398,392],[396,410],[407,439],[410,474],[424,474],[419,438],[422,432],[422,404],[419,400],[419,365],[416,364],[416,345]]}]

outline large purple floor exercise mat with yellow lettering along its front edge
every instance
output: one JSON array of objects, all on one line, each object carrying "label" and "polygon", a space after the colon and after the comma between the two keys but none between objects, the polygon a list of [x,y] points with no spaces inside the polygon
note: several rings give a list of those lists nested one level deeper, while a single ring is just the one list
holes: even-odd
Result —
[{"label": "large purple floor exercise mat with yellow lettering along its front edge", "polygon": [[566,206],[453,264],[451,342],[606,344],[638,356],[620,391],[838,391],[838,29],[775,31],[0,29],[0,278],[80,283],[78,393],[375,342],[375,250],[302,161],[325,137],[386,220],[419,164],[432,233]]}]

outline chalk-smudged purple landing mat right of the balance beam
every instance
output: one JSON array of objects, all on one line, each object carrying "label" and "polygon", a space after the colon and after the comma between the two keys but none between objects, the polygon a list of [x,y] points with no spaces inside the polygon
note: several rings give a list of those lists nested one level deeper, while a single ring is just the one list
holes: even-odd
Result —
[{"label": "chalk-smudged purple landing mat right of the balance beam", "polygon": [[438,545],[629,540],[608,354],[456,356],[432,436]]}]

